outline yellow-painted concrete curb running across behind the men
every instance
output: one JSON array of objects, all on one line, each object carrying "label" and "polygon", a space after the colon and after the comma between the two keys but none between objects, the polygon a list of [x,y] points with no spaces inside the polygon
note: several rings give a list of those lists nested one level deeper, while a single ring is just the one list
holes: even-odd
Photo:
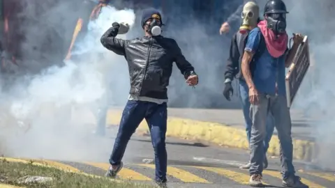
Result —
[{"label": "yellow-painted concrete curb running across behind the men", "polygon": [[[107,114],[107,125],[119,125],[122,111],[110,109]],[[137,133],[149,133],[145,120],[140,123]],[[193,141],[206,141],[218,146],[248,149],[246,132],[243,129],[229,127],[221,123],[211,123],[198,120],[168,117],[166,136]],[[311,160],[315,143],[293,139],[293,157],[295,159]],[[272,136],[269,143],[269,155],[280,155],[280,144],[277,135]]]}]

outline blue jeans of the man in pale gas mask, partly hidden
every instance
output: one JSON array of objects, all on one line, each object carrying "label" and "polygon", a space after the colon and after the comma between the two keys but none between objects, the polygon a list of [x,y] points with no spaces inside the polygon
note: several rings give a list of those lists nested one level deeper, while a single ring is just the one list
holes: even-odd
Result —
[{"label": "blue jeans of the man in pale gas mask, partly hidden", "polygon": [[[244,120],[246,121],[246,137],[250,145],[251,126],[253,125],[253,122],[250,116],[249,89],[246,81],[244,80],[239,80],[239,96],[242,103]],[[267,132],[263,142],[265,153],[267,153],[267,149],[269,148],[269,142],[271,141],[272,134],[274,134],[274,118],[271,114],[269,114],[269,116],[267,116]]]}]

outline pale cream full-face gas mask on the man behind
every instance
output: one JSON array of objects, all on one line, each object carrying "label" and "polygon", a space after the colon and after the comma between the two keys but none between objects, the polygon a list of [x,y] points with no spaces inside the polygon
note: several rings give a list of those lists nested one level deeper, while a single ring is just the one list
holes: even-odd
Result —
[{"label": "pale cream full-face gas mask on the man behind", "polygon": [[249,1],[244,5],[241,13],[242,23],[239,27],[240,33],[244,34],[247,31],[251,30],[251,28],[257,26],[260,14],[259,11],[260,8],[253,1]]}]

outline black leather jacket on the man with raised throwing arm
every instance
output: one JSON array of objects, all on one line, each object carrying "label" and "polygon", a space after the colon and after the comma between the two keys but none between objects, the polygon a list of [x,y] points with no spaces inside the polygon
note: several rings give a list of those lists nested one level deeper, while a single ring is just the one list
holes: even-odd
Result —
[{"label": "black leather jacket on the man with raised throwing arm", "polygon": [[131,94],[168,99],[167,86],[173,62],[176,62],[185,79],[195,75],[193,66],[186,61],[175,40],[163,36],[122,40],[115,38],[117,31],[108,29],[101,37],[101,43],[126,58],[131,77]]}]

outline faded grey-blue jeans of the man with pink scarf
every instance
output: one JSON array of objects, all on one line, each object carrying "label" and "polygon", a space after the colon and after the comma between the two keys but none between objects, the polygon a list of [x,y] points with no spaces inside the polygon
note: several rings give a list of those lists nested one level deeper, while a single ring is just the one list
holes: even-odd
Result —
[{"label": "faded grey-blue jeans of the man with pink scarf", "polygon": [[286,97],[282,95],[265,95],[259,97],[259,104],[251,105],[251,119],[253,126],[251,129],[251,168],[249,173],[261,174],[263,171],[263,159],[265,153],[262,141],[267,135],[266,119],[268,113],[274,116],[274,125],[278,132],[281,143],[281,168],[283,178],[295,175],[295,167],[292,164],[293,144],[291,137],[290,109],[287,107]]}]

